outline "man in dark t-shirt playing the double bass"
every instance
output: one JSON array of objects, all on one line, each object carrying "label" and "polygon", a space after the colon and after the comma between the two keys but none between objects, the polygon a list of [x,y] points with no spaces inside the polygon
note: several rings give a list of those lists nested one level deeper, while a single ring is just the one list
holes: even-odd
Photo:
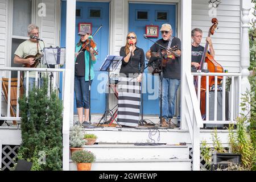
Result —
[{"label": "man in dark t-shirt playing the double bass", "polygon": [[[203,36],[203,31],[200,28],[194,28],[191,31],[191,38],[193,39],[192,48],[191,48],[191,67],[200,67],[200,61],[204,52],[204,47],[200,46]],[[208,53],[214,58],[214,49],[212,46],[212,39],[207,37],[206,41],[209,43]]]}]

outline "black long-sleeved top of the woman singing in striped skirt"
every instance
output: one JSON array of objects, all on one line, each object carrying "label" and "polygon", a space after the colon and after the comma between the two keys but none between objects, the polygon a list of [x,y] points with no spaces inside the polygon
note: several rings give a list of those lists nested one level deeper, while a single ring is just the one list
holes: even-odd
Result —
[{"label": "black long-sleeved top of the woman singing in striped skirt", "polygon": [[[120,49],[120,56],[126,57],[125,46]],[[122,59],[120,73],[129,76],[129,73],[143,73],[144,71],[145,54],[142,48],[136,47],[134,55],[130,57],[128,63]]]}]

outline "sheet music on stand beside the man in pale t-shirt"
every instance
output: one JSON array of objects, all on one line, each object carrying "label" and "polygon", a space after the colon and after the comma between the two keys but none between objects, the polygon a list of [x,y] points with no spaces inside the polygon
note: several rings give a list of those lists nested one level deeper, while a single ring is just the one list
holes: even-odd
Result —
[{"label": "sheet music on stand beside the man in pale t-shirt", "polygon": [[47,64],[46,60],[48,62],[48,64],[61,64],[63,65],[65,63],[65,59],[66,59],[66,49],[65,48],[60,48],[60,47],[56,47],[56,48],[44,48],[43,49],[43,64]]}]

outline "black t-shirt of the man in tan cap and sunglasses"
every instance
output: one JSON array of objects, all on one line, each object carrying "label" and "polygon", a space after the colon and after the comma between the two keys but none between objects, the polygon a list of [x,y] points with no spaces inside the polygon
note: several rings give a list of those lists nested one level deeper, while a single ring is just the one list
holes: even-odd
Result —
[{"label": "black t-shirt of the man in tan cap and sunglasses", "polygon": [[[169,41],[159,39],[156,41],[156,43],[167,47]],[[160,46],[158,44],[153,44],[153,46],[150,47],[151,52],[157,52],[160,49]],[[172,39],[171,48],[177,46],[177,49],[181,50],[181,42],[179,38],[174,37]],[[173,78],[173,79],[180,79],[181,75],[181,57],[175,57],[174,60],[168,61],[166,67],[163,67],[163,77],[167,78]]]}]

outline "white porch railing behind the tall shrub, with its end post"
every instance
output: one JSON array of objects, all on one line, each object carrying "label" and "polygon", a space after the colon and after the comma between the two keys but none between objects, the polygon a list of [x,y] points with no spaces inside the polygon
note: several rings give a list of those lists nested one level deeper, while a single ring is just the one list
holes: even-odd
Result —
[{"label": "white porch railing behind the tall shrub, with its end post", "polygon": [[[25,71],[27,72],[27,75],[29,75],[29,71],[35,71],[36,72],[36,85],[38,85],[38,73],[46,73],[50,74],[51,72],[53,73],[53,80],[52,80],[52,89],[56,89],[56,87],[59,87],[59,81],[60,79],[63,80],[63,87],[61,90],[61,100],[64,101],[63,103],[63,169],[68,170],[69,166],[69,118],[71,113],[71,107],[70,107],[70,98],[71,92],[70,85],[71,85],[71,71],[69,69],[52,69],[52,68],[0,68],[0,90],[1,93],[3,93],[3,88],[2,88],[2,78],[7,78],[8,79],[8,91],[7,91],[7,104],[5,102],[2,102],[2,95],[0,97],[0,119],[1,120],[12,120],[12,121],[20,121],[19,117],[19,103],[16,102],[16,113],[14,116],[10,115],[10,106],[11,106],[11,73],[12,72],[17,72],[18,77],[17,77],[17,88],[16,88],[16,101],[19,100],[20,96],[20,72]],[[59,73],[62,72],[63,76],[60,78]],[[27,78],[27,83],[28,83],[28,78]],[[26,84],[26,96],[29,97],[28,95],[28,84]],[[48,93],[49,93],[49,88],[50,85],[48,84]],[[25,94],[25,93],[24,93]],[[5,96],[3,96],[5,98]],[[3,107],[4,112],[2,111],[2,103],[7,105]],[[7,111],[6,111],[7,110]],[[2,117],[1,114],[6,114],[5,117]],[[1,144],[1,143],[0,143]],[[1,145],[0,145],[1,146]],[[0,148],[1,150],[1,148]],[[0,151],[1,154],[1,151]]]}]

